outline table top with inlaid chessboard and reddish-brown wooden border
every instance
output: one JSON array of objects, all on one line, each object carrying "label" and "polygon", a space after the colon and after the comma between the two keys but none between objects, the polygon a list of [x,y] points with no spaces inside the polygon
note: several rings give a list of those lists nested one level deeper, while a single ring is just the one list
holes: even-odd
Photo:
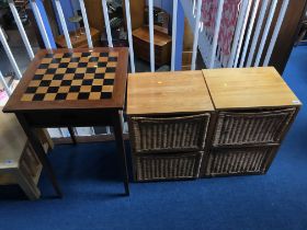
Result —
[{"label": "table top with inlaid chessboard and reddish-brown wooden border", "polygon": [[123,108],[127,48],[39,50],[4,112]]}]

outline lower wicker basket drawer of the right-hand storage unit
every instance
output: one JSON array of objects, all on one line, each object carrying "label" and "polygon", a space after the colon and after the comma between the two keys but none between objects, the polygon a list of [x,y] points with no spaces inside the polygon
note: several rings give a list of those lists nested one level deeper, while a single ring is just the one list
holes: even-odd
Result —
[{"label": "lower wicker basket drawer of the right-hand storage unit", "polygon": [[268,170],[275,151],[276,147],[216,148],[208,154],[205,174],[261,174]]}]

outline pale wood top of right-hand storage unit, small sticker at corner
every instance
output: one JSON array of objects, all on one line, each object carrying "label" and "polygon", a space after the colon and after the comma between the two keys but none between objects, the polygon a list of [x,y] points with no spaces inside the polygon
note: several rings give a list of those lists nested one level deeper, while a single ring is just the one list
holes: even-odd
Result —
[{"label": "pale wood top of right-hand storage unit, small sticker at corner", "polygon": [[203,70],[217,110],[299,106],[273,67]]}]

